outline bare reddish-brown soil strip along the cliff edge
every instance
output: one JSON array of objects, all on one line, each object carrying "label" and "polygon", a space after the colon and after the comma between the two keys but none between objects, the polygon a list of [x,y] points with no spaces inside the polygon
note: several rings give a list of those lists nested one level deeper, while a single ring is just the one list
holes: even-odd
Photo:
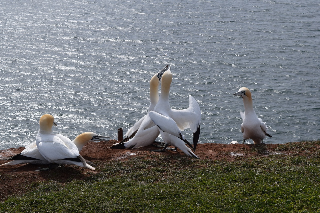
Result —
[{"label": "bare reddish-brown soil strip along the cliff edge", "polygon": [[[84,159],[92,161],[98,165],[97,170],[90,170],[74,165],[64,165],[59,169],[59,172],[49,171],[34,171],[38,166],[33,164],[18,164],[11,166],[0,167],[0,201],[4,201],[7,196],[19,195],[28,191],[32,183],[39,181],[58,181],[67,183],[72,180],[84,180],[93,174],[99,173],[99,165],[110,161],[125,161],[136,156],[146,156],[154,146],[146,146],[136,149],[111,149],[109,148],[117,140],[108,142],[91,142],[84,146],[80,154]],[[294,142],[303,143],[303,142]],[[310,147],[307,152],[299,150],[276,151],[280,144],[198,144],[195,154],[200,159],[212,159],[223,161],[235,161],[239,159],[265,157],[270,154],[285,154],[285,155],[306,155],[318,152],[320,147],[315,144]],[[10,148],[0,151],[0,158],[12,156],[20,153],[24,147]],[[177,152],[154,152],[159,155],[177,155],[188,158],[179,149]],[[3,163],[3,162],[0,162]],[[44,167],[44,166],[42,166]],[[54,169],[54,170],[58,170]]]}]

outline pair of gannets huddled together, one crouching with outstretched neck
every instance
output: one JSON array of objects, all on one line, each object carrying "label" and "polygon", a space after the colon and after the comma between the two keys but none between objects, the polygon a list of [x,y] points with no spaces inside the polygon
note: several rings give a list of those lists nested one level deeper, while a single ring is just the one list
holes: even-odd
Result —
[{"label": "pair of gannets huddled together, one crouching with outstretched neck", "polygon": [[[52,120],[52,123],[51,123]],[[51,123],[51,126],[49,126]],[[73,155],[68,155],[68,148],[71,147],[72,149],[76,149],[78,150],[78,152],[80,152],[82,150],[82,148],[84,147],[85,144],[87,144],[88,142],[93,142],[93,141],[109,141],[108,136],[102,136],[102,135],[97,135],[94,132],[84,132],[80,135],[78,135],[73,141],[69,140],[67,137],[64,137],[60,134],[54,134],[52,132],[52,125],[53,126],[57,126],[57,124],[54,122],[54,118],[52,115],[43,115],[40,119],[40,130],[38,132],[37,135],[37,139],[38,142],[42,143],[45,142],[45,146],[48,147],[48,149],[50,149],[50,147],[52,147],[53,149],[49,150],[49,152],[52,152],[51,155],[55,155],[55,157],[53,157],[52,160],[56,161],[55,163],[57,164],[76,164],[79,165],[78,160],[76,160],[76,162],[74,162],[73,159],[71,159],[72,157],[74,157]],[[39,138],[38,138],[39,136]],[[4,165],[15,165],[15,164],[21,164],[21,163],[31,163],[31,164],[39,164],[39,165],[45,165],[45,164],[49,164],[52,163],[51,161],[49,161],[46,157],[44,157],[40,150],[37,147],[37,139],[36,142],[28,145],[25,147],[25,149],[20,153],[20,154],[16,154],[12,157],[8,157],[8,158],[3,158],[0,160],[13,160],[11,162],[7,162],[4,163],[0,166],[4,166]],[[51,141],[51,142],[50,142]],[[69,143],[71,144],[71,146],[69,145]],[[60,149],[54,148],[59,146]],[[58,151],[57,151],[58,150]],[[71,151],[75,152],[75,151]],[[64,153],[64,154],[61,154]],[[75,152],[76,153],[76,152]],[[64,158],[66,158],[65,156],[68,155],[68,159],[67,161],[63,161],[65,160]],[[59,157],[59,156],[63,156],[63,157]],[[59,159],[61,158],[61,159]],[[80,157],[82,158],[82,157]],[[78,158],[79,159],[79,158]],[[86,160],[85,160],[86,161]],[[86,161],[87,164],[91,164],[94,165],[92,162],[90,161]],[[51,165],[50,165],[51,166]],[[49,168],[50,168],[49,166]],[[79,166],[84,166],[84,164],[82,163]],[[87,167],[87,166],[85,166]],[[92,169],[91,167],[87,167]],[[94,169],[94,168],[93,168]]]}]

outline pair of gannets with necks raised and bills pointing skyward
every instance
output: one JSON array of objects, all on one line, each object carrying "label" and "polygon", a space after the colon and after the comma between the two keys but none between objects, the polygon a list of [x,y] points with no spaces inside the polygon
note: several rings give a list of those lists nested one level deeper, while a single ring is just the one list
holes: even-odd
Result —
[{"label": "pair of gannets with necks raised and bills pointing skyward", "polygon": [[[163,77],[166,76],[163,80]],[[158,95],[159,84],[161,83],[160,99]],[[196,100],[189,96],[189,108],[184,110],[171,109],[169,104],[169,91],[172,82],[171,65],[164,67],[150,80],[150,106],[148,114],[141,118],[125,134],[126,138],[116,146],[111,148],[138,148],[152,144],[162,133],[165,142],[164,149],[169,145],[178,147],[189,156],[198,158],[183,141],[190,143],[183,137],[181,131],[191,128],[194,132],[194,150],[200,135],[200,107]],[[156,107],[158,109],[156,109]],[[163,108],[163,110],[161,110]],[[152,118],[150,115],[152,114]],[[166,117],[165,119],[163,119]],[[169,122],[167,122],[169,120]],[[164,127],[165,126],[165,127]],[[166,128],[170,129],[169,134],[165,133]],[[161,130],[162,129],[162,130]],[[125,142],[128,140],[127,142]],[[158,150],[157,150],[158,151]]]}]

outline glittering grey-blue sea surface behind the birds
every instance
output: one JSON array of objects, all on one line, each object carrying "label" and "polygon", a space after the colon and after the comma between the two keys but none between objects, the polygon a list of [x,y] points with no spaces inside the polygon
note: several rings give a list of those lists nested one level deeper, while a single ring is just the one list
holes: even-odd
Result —
[{"label": "glittering grey-blue sea surface behind the birds", "polygon": [[167,64],[171,107],[199,103],[199,143],[242,141],[241,87],[265,143],[318,139],[319,57],[318,0],[0,0],[0,149],[34,142],[43,114],[70,139],[117,138]]}]

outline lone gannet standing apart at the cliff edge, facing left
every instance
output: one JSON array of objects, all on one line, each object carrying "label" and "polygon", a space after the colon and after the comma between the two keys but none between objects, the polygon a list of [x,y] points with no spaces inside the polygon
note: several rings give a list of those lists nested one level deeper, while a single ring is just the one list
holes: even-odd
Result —
[{"label": "lone gannet standing apart at the cliff edge, facing left", "polygon": [[246,139],[252,139],[254,144],[263,143],[263,139],[271,135],[267,133],[267,127],[261,118],[258,118],[256,112],[253,110],[251,92],[248,88],[242,87],[233,95],[238,95],[243,99],[244,112],[240,112],[243,120],[241,124],[241,131],[243,133],[243,144]]}]

